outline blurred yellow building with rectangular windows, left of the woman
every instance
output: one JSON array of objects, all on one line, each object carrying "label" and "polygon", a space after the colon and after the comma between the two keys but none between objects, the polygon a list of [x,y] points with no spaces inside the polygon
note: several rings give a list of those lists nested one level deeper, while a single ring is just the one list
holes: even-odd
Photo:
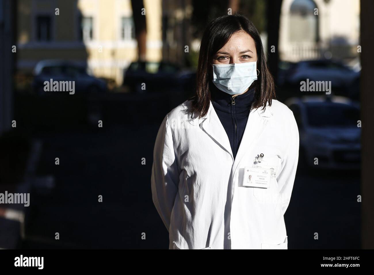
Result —
[{"label": "blurred yellow building with rectangular windows, left of the woman", "polygon": [[[144,7],[146,59],[160,61],[161,0],[144,0]],[[64,59],[120,85],[123,69],[138,58],[130,0],[19,0],[17,14],[22,73],[31,73],[40,60]]]}]

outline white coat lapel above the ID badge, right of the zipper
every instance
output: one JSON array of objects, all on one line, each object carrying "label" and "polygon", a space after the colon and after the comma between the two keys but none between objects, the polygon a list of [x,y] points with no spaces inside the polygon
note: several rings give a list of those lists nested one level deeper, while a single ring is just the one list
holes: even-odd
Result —
[{"label": "white coat lapel above the ID badge, right of the zipper", "polygon": [[[269,117],[271,117],[272,111],[269,105],[266,106],[265,111],[261,110],[262,107],[252,109],[249,113],[247,124],[244,129],[242,141],[240,142],[239,150],[236,154],[233,171],[237,169],[240,161],[245,158],[254,158],[255,156],[248,156],[249,148],[253,145],[257,138],[261,138],[261,134],[264,131]],[[258,152],[260,154],[261,152]]]}]

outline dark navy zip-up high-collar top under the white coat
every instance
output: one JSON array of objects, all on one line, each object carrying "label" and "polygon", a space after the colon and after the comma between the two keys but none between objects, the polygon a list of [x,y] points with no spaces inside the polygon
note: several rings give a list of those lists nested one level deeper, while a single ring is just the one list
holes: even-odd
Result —
[{"label": "dark navy zip-up high-collar top under the white coat", "polygon": [[230,140],[230,146],[235,159],[240,141],[242,141],[249,111],[254,101],[255,87],[244,94],[232,97],[214,85],[211,88],[211,101],[217,116]]}]

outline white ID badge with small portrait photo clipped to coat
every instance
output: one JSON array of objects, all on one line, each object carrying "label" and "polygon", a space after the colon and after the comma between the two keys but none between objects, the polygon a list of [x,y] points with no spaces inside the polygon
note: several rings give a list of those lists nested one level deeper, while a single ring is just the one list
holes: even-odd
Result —
[{"label": "white ID badge with small portrait photo clipped to coat", "polygon": [[272,170],[259,167],[244,167],[243,186],[268,188]]}]

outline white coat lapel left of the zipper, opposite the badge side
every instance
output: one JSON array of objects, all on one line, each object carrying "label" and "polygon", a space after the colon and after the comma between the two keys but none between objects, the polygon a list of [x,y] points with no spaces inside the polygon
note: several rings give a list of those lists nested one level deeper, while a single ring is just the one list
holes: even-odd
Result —
[{"label": "white coat lapel left of the zipper, opposite the badge side", "polygon": [[203,131],[206,132],[206,134],[208,134],[215,143],[228,152],[233,158],[229,137],[227,137],[226,131],[223,128],[223,125],[218,118],[212,103],[210,103],[207,115],[200,118],[199,121],[200,120],[202,120],[200,125]]}]

